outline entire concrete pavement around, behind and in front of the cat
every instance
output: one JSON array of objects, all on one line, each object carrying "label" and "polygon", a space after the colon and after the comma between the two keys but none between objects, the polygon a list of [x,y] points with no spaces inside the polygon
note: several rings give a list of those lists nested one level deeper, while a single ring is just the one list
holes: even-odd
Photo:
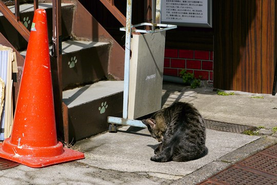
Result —
[{"label": "entire concrete pavement around, behind and in front of the cat", "polygon": [[[164,83],[162,104],[193,103],[205,119],[263,127],[258,136],[207,128],[209,152],[188,162],[150,161],[158,142],[147,129],[122,126],[117,133],[103,133],[78,141],[73,149],[83,160],[33,169],[25,165],[0,171],[5,184],[196,184],[211,175],[277,143],[277,97],[235,91],[219,96],[213,88],[190,89]],[[256,98],[255,98],[256,97]],[[263,98],[262,98],[263,97]]]}]

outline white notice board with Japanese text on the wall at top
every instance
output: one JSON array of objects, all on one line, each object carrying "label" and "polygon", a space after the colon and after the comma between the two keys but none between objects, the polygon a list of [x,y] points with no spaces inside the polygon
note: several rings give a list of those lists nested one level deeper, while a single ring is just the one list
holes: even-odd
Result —
[{"label": "white notice board with Japanese text on the wall at top", "polygon": [[191,27],[212,27],[212,0],[163,0],[161,23]]}]

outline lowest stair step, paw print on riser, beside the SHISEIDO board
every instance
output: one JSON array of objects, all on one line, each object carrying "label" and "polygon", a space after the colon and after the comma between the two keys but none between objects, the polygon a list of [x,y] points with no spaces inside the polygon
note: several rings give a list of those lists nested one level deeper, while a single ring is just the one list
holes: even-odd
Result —
[{"label": "lowest stair step, paw print on riser, beside the SHISEIDO board", "polygon": [[[107,131],[108,116],[122,117],[123,81],[100,81],[63,91],[65,141],[81,140]],[[67,119],[67,120],[66,120]]]}]

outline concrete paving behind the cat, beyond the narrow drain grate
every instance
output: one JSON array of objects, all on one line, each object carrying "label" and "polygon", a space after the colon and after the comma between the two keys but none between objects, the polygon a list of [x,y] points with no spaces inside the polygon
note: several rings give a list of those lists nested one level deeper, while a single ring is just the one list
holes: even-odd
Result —
[{"label": "concrete paving behind the cat, beyond the narrow drain grate", "polygon": [[[205,119],[266,128],[277,126],[277,96],[241,91],[226,91],[234,95],[219,96],[211,87],[190,89],[183,86],[182,89],[178,84],[168,86],[170,89],[165,87],[163,92],[164,107],[184,101],[192,103]],[[174,87],[178,91],[173,91]]]}]

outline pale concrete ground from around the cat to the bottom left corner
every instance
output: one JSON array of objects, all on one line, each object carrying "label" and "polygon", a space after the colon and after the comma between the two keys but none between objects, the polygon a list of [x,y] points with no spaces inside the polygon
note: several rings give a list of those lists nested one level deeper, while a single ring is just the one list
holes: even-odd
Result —
[{"label": "pale concrete ground from around the cat to the bottom left corner", "polygon": [[85,153],[83,160],[41,169],[19,165],[0,171],[0,180],[9,179],[7,184],[170,184],[259,138],[207,129],[206,156],[188,162],[157,163],[150,157],[158,142],[147,129],[123,126],[117,133],[78,142],[75,149]]}]

